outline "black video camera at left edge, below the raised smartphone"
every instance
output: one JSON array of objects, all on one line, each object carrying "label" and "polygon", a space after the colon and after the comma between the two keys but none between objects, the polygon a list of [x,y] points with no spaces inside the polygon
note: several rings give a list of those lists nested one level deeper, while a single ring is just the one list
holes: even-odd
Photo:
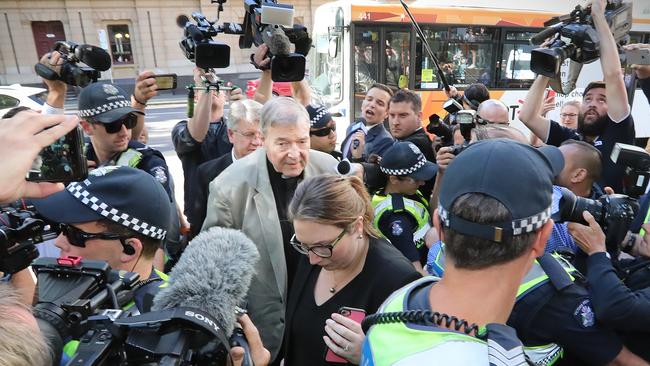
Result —
[{"label": "black video camera at left edge, below the raised smartphone", "polygon": [[38,257],[36,244],[58,233],[30,207],[3,206],[0,210],[0,272],[16,273]]}]

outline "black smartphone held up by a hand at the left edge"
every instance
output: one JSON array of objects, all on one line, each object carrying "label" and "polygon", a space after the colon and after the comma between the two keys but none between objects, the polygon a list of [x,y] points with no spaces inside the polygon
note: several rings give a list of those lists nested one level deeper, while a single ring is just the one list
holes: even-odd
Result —
[{"label": "black smartphone held up by a hand at the left edge", "polygon": [[88,177],[83,134],[77,126],[38,154],[26,179],[31,182],[69,183]]}]

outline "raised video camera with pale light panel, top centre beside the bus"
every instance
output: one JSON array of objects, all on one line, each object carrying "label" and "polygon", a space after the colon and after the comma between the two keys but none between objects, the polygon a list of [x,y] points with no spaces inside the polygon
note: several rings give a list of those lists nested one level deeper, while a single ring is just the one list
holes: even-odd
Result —
[{"label": "raised video camera with pale light panel, top centre beside the bus", "polygon": [[[307,28],[293,24],[293,5],[278,4],[277,0],[244,0],[244,34],[240,48],[262,43],[269,47],[273,81],[300,81],[305,76],[305,56],[311,48]],[[296,52],[290,51],[290,44]]]}]

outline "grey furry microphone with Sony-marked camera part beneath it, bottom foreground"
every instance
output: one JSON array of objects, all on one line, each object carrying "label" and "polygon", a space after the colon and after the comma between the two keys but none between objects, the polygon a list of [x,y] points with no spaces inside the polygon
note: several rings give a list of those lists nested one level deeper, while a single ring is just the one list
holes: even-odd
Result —
[{"label": "grey furry microphone with Sony-marked camera part beneath it, bottom foreground", "polygon": [[258,260],[255,244],[240,231],[215,227],[197,235],[153,298],[153,311],[114,322],[129,330],[127,359],[219,366],[230,346],[238,345],[244,348],[242,364],[252,365],[235,321]]}]

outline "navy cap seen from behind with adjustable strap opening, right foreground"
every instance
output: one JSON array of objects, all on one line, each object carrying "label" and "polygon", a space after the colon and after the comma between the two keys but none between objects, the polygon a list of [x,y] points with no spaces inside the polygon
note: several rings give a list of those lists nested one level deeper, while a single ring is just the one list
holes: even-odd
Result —
[{"label": "navy cap seen from behind with adjustable strap opening, right foreground", "polygon": [[[563,167],[562,153],[554,146],[534,148],[510,139],[471,144],[454,158],[442,178],[438,207],[442,224],[496,242],[538,230],[551,217],[553,180]],[[510,219],[478,224],[451,215],[454,201],[467,193],[482,193],[501,202]]]}]

